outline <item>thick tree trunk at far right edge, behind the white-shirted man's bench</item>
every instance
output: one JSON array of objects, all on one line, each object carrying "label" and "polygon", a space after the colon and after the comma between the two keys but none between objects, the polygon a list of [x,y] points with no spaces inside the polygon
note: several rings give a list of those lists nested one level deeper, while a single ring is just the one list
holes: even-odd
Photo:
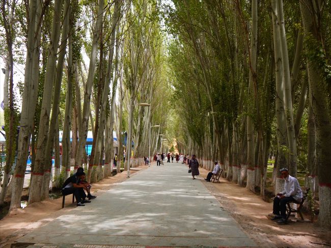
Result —
[{"label": "thick tree trunk at far right edge, behind the white-shirted man's bench", "polygon": [[[321,46],[321,30],[316,26],[315,13],[321,15],[320,9],[315,9],[310,1],[300,1],[301,16],[304,23],[305,36],[311,36],[307,42],[306,49],[319,52],[316,49],[316,43]],[[315,45],[310,45],[314,42]],[[320,58],[320,57],[318,57]],[[327,103],[326,82],[322,77],[323,68],[318,64],[316,58],[307,59],[310,101],[316,123],[316,158],[318,164],[318,181],[319,181],[319,214],[318,223],[323,228],[331,229],[331,118],[330,109]]]}]

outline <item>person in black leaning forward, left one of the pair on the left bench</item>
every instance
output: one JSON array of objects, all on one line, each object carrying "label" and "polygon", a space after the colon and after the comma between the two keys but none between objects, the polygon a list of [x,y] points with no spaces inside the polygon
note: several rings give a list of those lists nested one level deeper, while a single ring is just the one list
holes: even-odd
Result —
[{"label": "person in black leaning forward, left one of the pair on the left bench", "polygon": [[85,176],[84,172],[76,172],[71,177],[68,177],[62,186],[62,194],[65,196],[74,194],[78,207],[85,206],[84,203],[91,202],[90,200],[86,200],[87,195],[84,191],[84,189],[86,189],[86,185],[78,184],[82,176]]}]

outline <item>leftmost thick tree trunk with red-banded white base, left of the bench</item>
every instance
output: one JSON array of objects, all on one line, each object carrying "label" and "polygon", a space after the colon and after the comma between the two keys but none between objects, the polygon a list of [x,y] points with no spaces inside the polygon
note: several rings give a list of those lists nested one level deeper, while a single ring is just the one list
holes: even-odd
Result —
[{"label": "leftmost thick tree trunk with red-banded white base, left of the bench", "polygon": [[22,96],[22,111],[18,135],[18,153],[14,172],[13,192],[10,211],[20,208],[21,194],[26,169],[30,137],[34,124],[34,116],[38,94],[39,53],[42,23],[42,7],[37,0],[31,0],[29,5],[29,25],[27,27],[27,52],[24,73],[24,90]]}]

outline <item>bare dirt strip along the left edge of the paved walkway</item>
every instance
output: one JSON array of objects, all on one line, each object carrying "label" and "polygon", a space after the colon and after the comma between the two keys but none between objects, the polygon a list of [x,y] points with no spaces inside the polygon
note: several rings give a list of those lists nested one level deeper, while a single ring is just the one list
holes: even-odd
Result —
[{"label": "bare dirt strip along the left edge of the paved walkway", "polygon": [[[130,173],[136,173],[146,169],[148,166],[133,168]],[[91,193],[95,196],[101,195],[104,191],[111,189],[115,185],[126,180],[127,173],[122,172],[113,177],[108,177],[91,188]],[[62,197],[59,199],[48,199],[28,205],[24,209],[16,209],[0,220],[0,248],[10,247],[19,237],[30,232],[69,211],[75,211],[76,204],[72,204],[71,196],[66,197],[65,207],[62,208]],[[92,200],[93,201],[93,200]],[[93,204],[88,203],[88,204]]]}]

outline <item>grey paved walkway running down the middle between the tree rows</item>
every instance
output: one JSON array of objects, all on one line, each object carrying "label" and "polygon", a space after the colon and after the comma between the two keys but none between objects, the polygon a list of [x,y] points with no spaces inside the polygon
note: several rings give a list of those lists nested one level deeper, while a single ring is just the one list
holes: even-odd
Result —
[{"label": "grey paved walkway running down the middle between the tree rows", "polygon": [[135,173],[18,242],[61,247],[256,246],[201,179],[192,180],[180,163],[164,164]]}]

